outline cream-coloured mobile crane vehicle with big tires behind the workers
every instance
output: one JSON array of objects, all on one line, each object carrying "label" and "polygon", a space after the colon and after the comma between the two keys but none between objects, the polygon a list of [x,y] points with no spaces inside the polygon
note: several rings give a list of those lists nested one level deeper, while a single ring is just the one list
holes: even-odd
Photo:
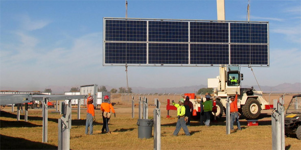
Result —
[{"label": "cream-coloured mobile crane vehicle with big tires behind the workers", "polygon": [[[256,119],[259,117],[261,110],[273,108],[273,105],[263,98],[262,91],[256,91],[251,88],[241,88],[243,74],[240,73],[239,67],[220,67],[220,76],[214,79],[208,79],[208,88],[214,88],[212,99],[216,106],[215,116],[221,117],[226,108],[228,98],[238,93],[238,109],[246,119]],[[198,98],[191,98],[190,101],[200,113],[200,101]],[[205,99],[204,99],[205,100]],[[170,105],[169,103],[167,105]],[[167,110],[175,110],[172,106],[167,106]],[[199,115],[198,115],[199,116]]]}]

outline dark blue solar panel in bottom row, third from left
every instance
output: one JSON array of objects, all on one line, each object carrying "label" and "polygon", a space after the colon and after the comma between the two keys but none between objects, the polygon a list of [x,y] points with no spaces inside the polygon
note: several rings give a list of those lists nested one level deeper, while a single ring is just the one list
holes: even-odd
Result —
[{"label": "dark blue solar panel in bottom row, third from left", "polygon": [[228,44],[191,44],[191,64],[229,64]]}]

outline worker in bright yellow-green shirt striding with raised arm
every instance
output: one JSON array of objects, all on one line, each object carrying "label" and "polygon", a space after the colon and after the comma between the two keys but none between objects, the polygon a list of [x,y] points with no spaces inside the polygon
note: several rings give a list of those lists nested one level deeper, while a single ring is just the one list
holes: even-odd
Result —
[{"label": "worker in bright yellow-green shirt striding with raised arm", "polygon": [[180,129],[183,128],[184,133],[187,136],[190,136],[190,133],[188,131],[188,128],[186,126],[186,121],[184,120],[185,117],[185,107],[184,107],[184,99],[181,98],[178,104],[175,104],[175,102],[172,100],[172,104],[177,108],[177,124],[176,124],[176,130],[174,131],[173,135],[177,136]]}]

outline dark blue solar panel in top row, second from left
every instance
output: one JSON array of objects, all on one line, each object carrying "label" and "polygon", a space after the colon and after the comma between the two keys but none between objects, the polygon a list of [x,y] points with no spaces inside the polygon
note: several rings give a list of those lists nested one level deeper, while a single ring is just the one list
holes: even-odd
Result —
[{"label": "dark blue solar panel in top row, second from left", "polygon": [[188,22],[149,21],[150,42],[188,42]]}]

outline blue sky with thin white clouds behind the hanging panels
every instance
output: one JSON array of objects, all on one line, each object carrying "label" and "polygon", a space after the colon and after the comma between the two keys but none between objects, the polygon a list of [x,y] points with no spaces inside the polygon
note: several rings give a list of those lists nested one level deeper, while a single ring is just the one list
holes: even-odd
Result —
[{"label": "blue sky with thin white clouds behind the hanging panels", "polygon": [[[225,19],[245,21],[247,4],[247,0],[225,0]],[[125,17],[125,1],[1,1],[0,5],[1,90],[126,87],[125,67],[102,66],[103,17]],[[217,20],[216,1],[128,0],[128,18]],[[253,67],[259,84],[300,83],[301,1],[251,1],[250,20],[269,21],[270,67]],[[243,67],[241,73],[243,86],[257,85],[250,68]],[[130,87],[207,85],[208,78],[218,75],[218,67],[128,68]]]}]

